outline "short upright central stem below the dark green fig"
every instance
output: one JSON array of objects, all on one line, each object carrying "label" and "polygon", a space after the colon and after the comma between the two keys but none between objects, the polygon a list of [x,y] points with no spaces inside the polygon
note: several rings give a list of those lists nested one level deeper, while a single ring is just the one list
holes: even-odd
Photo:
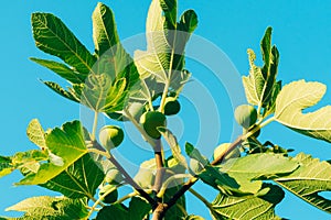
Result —
[{"label": "short upright central stem below the dark green fig", "polygon": [[157,163],[157,174],[154,185],[152,187],[153,193],[157,195],[162,186],[163,175],[164,175],[164,164],[163,164],[163,155],[162,155],[162,144],[161,139],[156,140],[156,147],[154,147],[154,157]]}]

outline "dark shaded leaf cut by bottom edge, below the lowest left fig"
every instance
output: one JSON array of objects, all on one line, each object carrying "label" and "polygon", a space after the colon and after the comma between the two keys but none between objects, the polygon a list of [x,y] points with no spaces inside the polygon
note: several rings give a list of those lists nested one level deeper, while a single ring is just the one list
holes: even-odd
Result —
[{"label": "dark shaded leaf cut by bottom edge, below the lowest left fig", "polygon": [[96,217],[96,220],[128,220],[129,212],[121,205],[106,206]]}]

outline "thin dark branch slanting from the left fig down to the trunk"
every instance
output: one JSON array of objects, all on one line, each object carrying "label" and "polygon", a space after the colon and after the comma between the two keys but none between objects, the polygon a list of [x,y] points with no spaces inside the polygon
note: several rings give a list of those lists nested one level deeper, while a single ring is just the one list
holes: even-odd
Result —
[{"label": "thin dark branch slanting from the left fig down to the trunk", "polygon": [[[98,142],[94,141],[94,146],[97,150],[100,150],[103,152],[106,152],[104,147],[99,145]],[[109,153],[108,160],[116,166],[116,168],[125,176],[126,182],[131,185],[151,205],[152,208],[157,207],[157,201],[151,198],[134,179],[132,177],[126,172],[126,169],[117,162],[117,160]]]}]

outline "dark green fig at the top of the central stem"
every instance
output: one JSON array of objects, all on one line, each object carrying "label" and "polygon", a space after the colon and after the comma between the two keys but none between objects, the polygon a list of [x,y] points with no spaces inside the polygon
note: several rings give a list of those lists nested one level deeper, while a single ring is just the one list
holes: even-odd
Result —
[{"label": "dark green fig at the top of the central stem", "polygon": [[140,123],[143,127],[146,133],[152,139],[160,139],[161,134],[158,131],[158,127],[166,127],[167,119],[166,116],[159,111],[145,112],[140,117]]}]

